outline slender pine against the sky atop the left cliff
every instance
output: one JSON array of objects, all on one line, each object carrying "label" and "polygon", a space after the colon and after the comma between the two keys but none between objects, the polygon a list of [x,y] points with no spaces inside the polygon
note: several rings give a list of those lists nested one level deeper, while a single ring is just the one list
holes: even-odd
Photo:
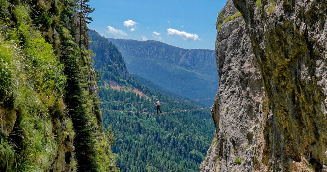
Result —
[{"label": "slender pine against the sky atop the left cliff", "polygon": [[79,11],[79,47],[82,46],[82,29],[87,29],[86,24],[91,23],[92,17],[89,17],[89,13],[93,12],[95,9],[90,7],[90,0],[78,0],[76,4],[76,11]]}]

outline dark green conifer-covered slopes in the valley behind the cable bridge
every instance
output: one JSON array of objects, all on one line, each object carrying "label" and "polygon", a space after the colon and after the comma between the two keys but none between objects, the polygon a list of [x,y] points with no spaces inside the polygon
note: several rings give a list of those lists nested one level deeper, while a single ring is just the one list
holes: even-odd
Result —
[{"label": "dark green conifer-covered slopes in the valley behind the cable bridge", "polygon": [[[112,72],[117,68],[111,66],[124,68],[124,61],[119,50],[95,31],[91,30],[90,36],[92,38],[90,49],[95,53],[94,67],[100,74],[98,85],[101,88],[99,92],[101,100],[148,103],[155,101],[156,98],[161,102],[178,100],[144,86],[128,71],[127,73]],[[110,85],[113,82],[125,89],[112,88]],[[137,88],[144,95],[140,96],[133,92],[132,88]],[[161,105],[162,111],[198,107],[190,103]],[[146,112],[155,112],[151,104],[103,102],[101,108],[127,111],[150,108]],[[102,117],[103,125],[105,127],[111,125],[117,138],[118,142],[112,150],[119,154],[117,164],[124,172],[148,170],[196,172],[214,131],[209,110],[164,115],[103,111]]]}]

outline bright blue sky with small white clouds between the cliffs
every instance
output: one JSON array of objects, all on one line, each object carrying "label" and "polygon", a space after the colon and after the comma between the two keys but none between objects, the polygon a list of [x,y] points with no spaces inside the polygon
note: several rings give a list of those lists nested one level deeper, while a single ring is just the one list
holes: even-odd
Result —
[{"label": "bright blue sky with small white clouds between the cliffs", "polygon": [[215,49],[217,13],[227,0],[91,0],[88,26],[110,38]]}]

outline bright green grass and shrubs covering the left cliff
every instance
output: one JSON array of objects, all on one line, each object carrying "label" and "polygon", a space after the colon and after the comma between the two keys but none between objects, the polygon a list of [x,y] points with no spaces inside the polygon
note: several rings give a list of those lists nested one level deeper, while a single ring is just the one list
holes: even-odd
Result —
[{"label": "bright green grass and shrubs covering the left cliff", "polygon": [[52,117],[64,108],[58,102],[65,76],[52,46],[31,25],[30,12],[27,5],[15,6],[18,26],[1,34],[1,106],[16,112],[18,124],[1,137],[1,171],[46,171],[58,152]]}]

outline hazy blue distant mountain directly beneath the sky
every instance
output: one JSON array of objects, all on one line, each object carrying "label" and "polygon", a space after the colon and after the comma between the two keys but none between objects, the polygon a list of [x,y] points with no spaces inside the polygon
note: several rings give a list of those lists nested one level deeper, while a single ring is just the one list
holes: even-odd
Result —
[{"label": "hazy blue distant mountain directly beneath the sky", "polygon": [[[218,74],[215,51],[184,49],[159,41],[108,38],[132,74],[191,99],[215,97]],[[206,102],[212,105],[212,101]]]}]

